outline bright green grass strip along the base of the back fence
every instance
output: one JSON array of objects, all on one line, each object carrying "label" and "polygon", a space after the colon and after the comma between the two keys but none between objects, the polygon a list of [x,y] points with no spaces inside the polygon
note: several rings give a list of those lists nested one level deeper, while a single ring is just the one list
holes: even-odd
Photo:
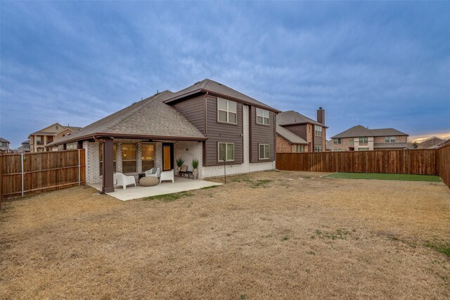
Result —
[{"label": "bright green grass strip along the base of the back fence", "polygon": [[396,181],[428,181],[441,182],[439,176],[434,175],[413,175],[413,174],[383,174],[383,173],[334,173],[326,178],[346,178],[346,179],[378,179]]}]

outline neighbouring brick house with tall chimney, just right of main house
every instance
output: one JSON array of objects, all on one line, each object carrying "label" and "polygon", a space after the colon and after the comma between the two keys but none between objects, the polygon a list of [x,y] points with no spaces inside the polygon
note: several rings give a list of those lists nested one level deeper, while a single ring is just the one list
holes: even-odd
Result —
[{"label": "neighbouring brick house with tall chimney, just right of main house", "polygon": [[293,110],[276,116],[276,152],[326,151],[325,110],[319,107],[317,121]]}]

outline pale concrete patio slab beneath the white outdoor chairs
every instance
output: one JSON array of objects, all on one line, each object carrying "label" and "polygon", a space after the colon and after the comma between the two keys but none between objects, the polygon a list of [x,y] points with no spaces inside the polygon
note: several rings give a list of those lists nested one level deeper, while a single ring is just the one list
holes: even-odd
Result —
[{"label": "pale concrete patio slab beneath the white outdoor chairs", "polygon": [[[125,190],[121,186],[116,186],[114,193],[108,193],[108,195],[113,196],[118,200],[125,201],[143,197],[179,193],[186,190],[198,190],[199,188],[207,188],[213,185],[221,185],[221,183],[175,177],[175,183],[163,181],[155,186],[141,186],[138,184],[134,187],[133,185],[128,185]],[[97,190],[101,190],[101,183],[92,183],[90,186]]]}]

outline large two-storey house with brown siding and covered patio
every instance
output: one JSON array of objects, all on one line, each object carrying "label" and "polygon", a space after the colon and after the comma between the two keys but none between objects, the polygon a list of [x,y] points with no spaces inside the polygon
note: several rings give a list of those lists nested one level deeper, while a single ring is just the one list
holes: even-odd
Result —
[{"label": "large two-storey house with brown siding and covered patio", "polygon": [[[278,110],[210,79],[163,91],[51,145],[86,150],[86,181],[113,191],[113,172],[199,162],[199,178],[275,168]],[[224,160],[225,159],[225,162]],[[104,176],[103,176],[104,174]]]}]

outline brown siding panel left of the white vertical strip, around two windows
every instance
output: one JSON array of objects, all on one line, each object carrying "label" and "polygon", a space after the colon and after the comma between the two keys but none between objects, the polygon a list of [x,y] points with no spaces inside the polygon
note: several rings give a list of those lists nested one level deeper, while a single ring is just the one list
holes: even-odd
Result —
[{"label": "brown siding panel left of the white vertical strip, around two windows", "polygon": [[216,166],[223,164],[218,162],[217,143],[234,143],[234,162],[226,164],[242,164],[243,157],[243,116],[242,103],[237,103],[237,124],[217,122],[217,97],[207,96],[207,140],[203,146],[203,166]]}]

